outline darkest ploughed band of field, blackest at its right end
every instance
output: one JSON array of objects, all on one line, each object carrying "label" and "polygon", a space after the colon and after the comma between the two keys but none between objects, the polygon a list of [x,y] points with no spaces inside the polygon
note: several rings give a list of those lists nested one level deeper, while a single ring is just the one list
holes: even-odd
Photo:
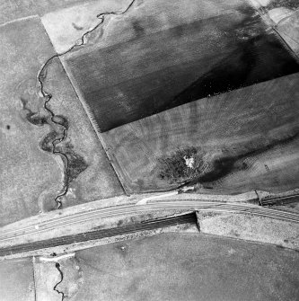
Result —
[{"label": "darkest ploughed band of field, blackest at its right end", "polygon": [[[164,7],[166,19],[170,11]],[[99,47],[66,59],[101,132],[299,71],[295,57],[249,4],[227,4],[215,14],[205,7],[200,20],[165,22],[163,30],[148,32],[141,19],[153,16],[139,13],[131,20],[130,40],[106,48],[100,40]]]}]

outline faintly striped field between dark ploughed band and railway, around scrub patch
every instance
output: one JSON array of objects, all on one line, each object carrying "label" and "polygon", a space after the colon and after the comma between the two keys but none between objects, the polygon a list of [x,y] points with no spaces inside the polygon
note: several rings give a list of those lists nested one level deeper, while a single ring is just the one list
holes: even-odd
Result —
[{"label": "faintly striped field between dark ploughed band and railway, around scrub patch", "polygon": [[298,187],[299,74],[190,102],[102,133],[121,180],[134,192],[179,183],[159,177],[159,160],[200,147],[206,168],[194,183],[216,190]]}]

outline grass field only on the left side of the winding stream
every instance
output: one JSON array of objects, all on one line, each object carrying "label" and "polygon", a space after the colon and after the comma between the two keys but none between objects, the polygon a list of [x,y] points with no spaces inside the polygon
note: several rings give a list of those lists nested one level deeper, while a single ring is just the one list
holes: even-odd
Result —
[{"label": "grass field only on the left side of the winding stream", "polygon": [[[32,17],[0,26],[0,225],[13,223],[54,208],[63,168],[54,156],[40,150],[40,140],[49,126],[34,120],[43,102],[37,94],[36,76],[40,66],[52,56],[40,18]],[[35,100],[39,105],[25,109]],[[29,122],[31,120],[31,122]],[[35,124],[32,124],[35,123]],[[56,161],[57,159],[57,161]],[[41,199],[45,198],[47,204]]]}]

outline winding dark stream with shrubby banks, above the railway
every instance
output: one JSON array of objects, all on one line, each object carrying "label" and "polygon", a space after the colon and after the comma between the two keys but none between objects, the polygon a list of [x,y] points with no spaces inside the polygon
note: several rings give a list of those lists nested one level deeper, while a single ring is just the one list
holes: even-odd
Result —
[{"label": "winding dark stream with shrubby banks, above the railway", "polygon": [[[44,147],[42,149],[44,149],[46,151],[51,151],[52,154],[60,155],[62,160],[65,163],[64,186],[63,186],[63,189],[60,191],[60,193],[55,197],[55,202],[57,203],[57,208],[62,208],[62,201],[60,200],[60,198],[66,195],[68,186],[69,186],[69,182],[72,181],[79,173],[82,173],[82,171],[84,171],[87,168],[87,165],[85,163],[83,164],[84,159],[81,156],[76,155],[74,152],[66,153],[64,151],[57,150],[57,148],[56,148],[57,144],[61,143],[62,141],[64,141],[66,139],[66,133],[67,133],[67,129],[68,129],[68,121],[63,116],[56,115],[48,107],[48,102],[50,102],[50,100],[52,98],[52,94],[46,92],[45,88],[44,88],[44,84],[45,84],[45,81],[47,78],[47,68],[54,58],[60,58],[60,57],[64,56],[66,53],[72,51],[73,49],[84,46],[85,36],[88,35],[89,33],[91,33],[92,31],[95,31],[96,29],[98,29],[101,26],[101,24],[105,21],[106,15],[120,15],[120,14],[127,13],[128,10],[133,6],[133,4],[135,2],[136,2],[136,0],[132,0],[130,2],[130,4],[128,4],[127,8],[122,12],[107,12],[107,13],[97,14],[97,18],[100,20],[100,22],[98,24],[96,24],[91,30],[85,31],[83,36],[81,37],[81,39],[77,40],[75,42],[75,44],[73,46],[71,46],[69,49],[67,49],[66,51],[64,51],[62,53],[57,53],[57,54],[53,55],[52,57],[48,58],[48,60],[45,62],[45,64],[43,66],[41,66],[41,68],[40,68],[40,72],[38,74],[38,81],[40,84],[40,93],[42,94],[42,97],[45,99],[44,109],[46,111],[48,111],[50,120],[54,124],[57,124],[58,126],[61,126],[63,128],[62,135],[58,136],[57,132],[53,131],[53,132],[50,132],[45,137],[45,139],[41,142],[41,147]],[[22,102],[22,103],[24,105],[25,102]],[[29,115],[30,114],[31,114],[31,112],[29,112]],[[31,119],[31,115],[29,116],[29,119]],[[32,122],[32,119],[31,119],[31,122]],[[52,140],[50,141],[51,138],[52,138]],[[70,161],[68,155],[75,160]],[[75,169],[73,171],[73,174],[70,173],[70,167],[71,167],[70,165],[73,166]]]}]

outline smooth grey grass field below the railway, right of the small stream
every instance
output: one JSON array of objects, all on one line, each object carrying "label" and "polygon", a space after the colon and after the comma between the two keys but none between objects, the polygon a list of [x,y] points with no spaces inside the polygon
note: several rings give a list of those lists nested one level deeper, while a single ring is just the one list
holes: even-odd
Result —
[{"label": "smooth grey grass field below the railway, right of the small stream", "polygon": [[299,296],[299,254],[272,245],[164,234],[79,251],[76,260],[84,286],[74,301],[278,301]]}]

